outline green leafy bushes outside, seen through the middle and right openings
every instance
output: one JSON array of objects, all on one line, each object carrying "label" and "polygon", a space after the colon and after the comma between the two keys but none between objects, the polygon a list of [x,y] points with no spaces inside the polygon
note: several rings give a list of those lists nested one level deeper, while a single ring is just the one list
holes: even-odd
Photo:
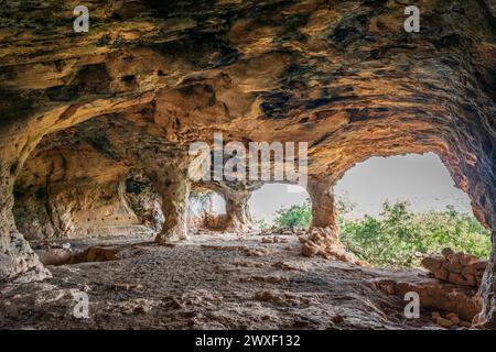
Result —
[{"label": "green leafy bushes outside, seen through the middle and right openings", "polygon": [[[414,213],[409,204],[385,202],[379,217],[351,219],[354,205],[339,201],[341,241],[359,258],[375,266],[420,266],[422,254],[439,254],[449,246],[454,251],[487,258],[490,232],[470,215],[453,207],[445,211]],[[277,212],[276,228],[305,229],[311,222],[310,202]]]}]

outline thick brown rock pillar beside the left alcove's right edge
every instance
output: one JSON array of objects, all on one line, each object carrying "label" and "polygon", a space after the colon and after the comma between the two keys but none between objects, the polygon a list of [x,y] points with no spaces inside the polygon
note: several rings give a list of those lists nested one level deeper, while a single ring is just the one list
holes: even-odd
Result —
[{"label": "thick brown rock pillar beside the left alcove's right edge", "polygon": [[165,218],[155,242],[187,239],[187,198],[191,190],[187,173],[180,169],[176,174],[153,174],[150,179],[162,197],[162,212]]}]

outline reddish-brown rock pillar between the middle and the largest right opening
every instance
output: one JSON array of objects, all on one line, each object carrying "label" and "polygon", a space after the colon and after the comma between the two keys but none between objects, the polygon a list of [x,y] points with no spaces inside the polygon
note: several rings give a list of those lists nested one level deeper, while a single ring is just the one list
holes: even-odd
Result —
[{"label": "reddish-brown rock pillar between the middle and the largest right opening", "polygon": [[334,184],[309,177],[306,190],[312,200],[312,228],[333,227],[337,230],[337,211],[333,194]]}]

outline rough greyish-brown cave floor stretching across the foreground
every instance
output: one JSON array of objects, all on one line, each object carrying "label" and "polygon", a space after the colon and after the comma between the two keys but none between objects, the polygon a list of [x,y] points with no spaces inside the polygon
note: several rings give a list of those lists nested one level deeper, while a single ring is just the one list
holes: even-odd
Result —
[{"label": "rough greyish-brown cave floor stretching across the foreground", "polygon": [[[406,302],[374,284],[429,280],[425,272],[309,258],[294,235],[279,239],[72,240],[73,249],[117,248],[118,258],[50,266],[53,278],[0,286],[0,329],[439,329],[427,310],[406,320]],[[88,319],[73,316],[75,292],[88,294]]]}]

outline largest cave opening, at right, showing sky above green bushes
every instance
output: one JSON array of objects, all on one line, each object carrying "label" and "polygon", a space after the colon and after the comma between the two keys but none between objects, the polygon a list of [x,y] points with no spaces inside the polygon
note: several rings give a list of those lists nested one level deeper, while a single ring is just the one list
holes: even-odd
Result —
[{"label": "largest cave opening, at right, showing sky above green bushes", "polygon": [[483,258],[490,253],[490,232],[433,153],[368,158],[334,194],[341,241],[374,266],[420,266],[444,248]]}]

